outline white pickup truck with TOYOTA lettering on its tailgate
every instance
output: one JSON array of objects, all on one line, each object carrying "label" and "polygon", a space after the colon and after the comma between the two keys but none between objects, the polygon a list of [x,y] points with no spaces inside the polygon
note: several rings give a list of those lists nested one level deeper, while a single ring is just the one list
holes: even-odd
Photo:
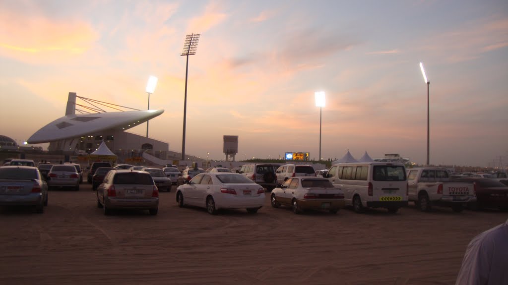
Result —
[{"label": "white pickup truck with TOYOTA lettering on its tailgate", "polygon": [[448,171],[440,167],[407,169],[407,184],[409,201],[414,201],[421,211],[436,205],[461,212],[467,203],[476,201],[473,183],[453,182]]}]

